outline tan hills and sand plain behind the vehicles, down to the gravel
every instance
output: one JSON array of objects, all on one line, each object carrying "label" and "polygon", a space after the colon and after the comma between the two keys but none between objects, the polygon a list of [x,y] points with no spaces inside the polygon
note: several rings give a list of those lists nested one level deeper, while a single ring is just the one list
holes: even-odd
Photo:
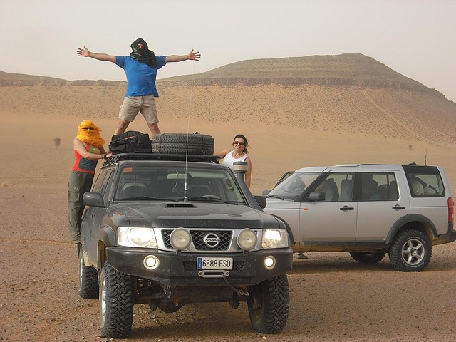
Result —
[{"label": "tan hills and sand plain behind the vehicles, down to the gravel", "polygon": [[[125,87],[0,71],[0,153],[9,161],[0,181],[52,178],[64,190],[78,124],[94,120],[107,148]],[[162,132],[210,134],[216,152],[247,135],[256,194],[288,170],[358,162],[442,165],[456,186],[456,103],[359,53],[240,61],[157,88]],[[138,117],[129,129],[147,125]]]}]

